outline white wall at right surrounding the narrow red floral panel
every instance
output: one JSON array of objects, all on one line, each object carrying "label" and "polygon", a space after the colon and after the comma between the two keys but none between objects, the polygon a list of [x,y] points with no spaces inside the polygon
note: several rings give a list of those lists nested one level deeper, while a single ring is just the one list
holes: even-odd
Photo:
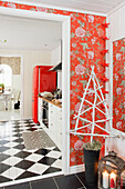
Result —
[{"label": "white wall at right surrounding the narrow red floral panel", "polygon": [[[107,16],[107,22],[110,22],[110,27],[107,29],[107,36],[110,40],[107,41],[107,48],[110,49],[110,53],[107,54],[107,62],[110,63],[110,68],[107,69],[107,76],[110,78],[110,83],[107,86],[110,96],[108,103],[113,100],[113,82],[112,82],[112,70],[113,70],[113,41],[117,39],[122,39],[125,37],[125,4],[119,9],[112,12],[112,14]],[[113,110],[113,105],[111,103],[111,113]],[[122,135],[125,137],[125,133],[122,133],[114,129],[115,133]],[[122,158],[125,160],[125,139],[108,139],[107,141],[107,150],[116,151]]]}]

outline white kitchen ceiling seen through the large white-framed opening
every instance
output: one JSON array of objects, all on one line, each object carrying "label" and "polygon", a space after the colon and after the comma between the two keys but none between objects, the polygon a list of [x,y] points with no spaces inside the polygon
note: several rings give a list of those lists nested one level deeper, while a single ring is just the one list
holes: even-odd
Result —
[{"label": "white kitchen ceiling seen through the large white-framed opening", "polygon": [[0,49],[52,51],[61,44],[61,22],[0,16]]}]

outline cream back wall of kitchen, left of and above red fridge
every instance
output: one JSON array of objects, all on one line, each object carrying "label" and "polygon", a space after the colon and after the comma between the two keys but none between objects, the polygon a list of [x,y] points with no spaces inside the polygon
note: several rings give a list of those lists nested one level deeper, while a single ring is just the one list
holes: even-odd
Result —
[{"label": "cream back wall of kitchen, left of and above red fridge", "polygon": [[1,50],[2,56],[22,56],[23,57],[23,113],[24,118],[32,118],[32,77],[33,67],[39,64],[51,64],[51,53],[41,51],[22,51],[22,50]]}]

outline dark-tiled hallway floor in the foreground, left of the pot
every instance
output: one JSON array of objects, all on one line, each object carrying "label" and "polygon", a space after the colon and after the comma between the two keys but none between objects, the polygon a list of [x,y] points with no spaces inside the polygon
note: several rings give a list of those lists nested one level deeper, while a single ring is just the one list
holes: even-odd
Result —
[{"label": "dark-tiled hallway floor in the foreground, left of the pot", "polygon": [[[38,181],[24,182],[0,189],[97,189],[85,186],[85,173],[80,172],[70,176],[58,176]],[[123,187],[125,189],[125,187]]]}]

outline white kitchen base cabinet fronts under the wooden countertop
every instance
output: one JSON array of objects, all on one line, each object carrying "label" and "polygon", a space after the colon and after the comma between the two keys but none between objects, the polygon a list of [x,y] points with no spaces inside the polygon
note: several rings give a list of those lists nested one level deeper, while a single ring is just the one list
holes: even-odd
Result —
[{"label": "white kitchen base cabinet fronts under the wooden countertop", "polygon": [[[49,100],[48,100],[49,102]],[[39,122],[43,126],[44,131],[54,141],[54,143],[62,150],[62,108],[49,102],[49,127],[42,122],[42,105],[43,99],[39,98]]]}]

